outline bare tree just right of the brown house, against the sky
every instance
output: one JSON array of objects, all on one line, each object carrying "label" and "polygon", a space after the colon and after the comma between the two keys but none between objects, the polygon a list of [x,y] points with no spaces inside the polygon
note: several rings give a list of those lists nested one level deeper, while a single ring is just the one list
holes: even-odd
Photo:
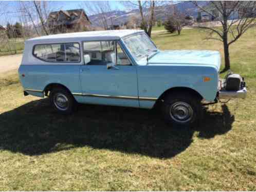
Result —
[{"label": "bare tree just right of the brown house, against the sky", "polygon": [[108,22],[113,25],[113,18],[108,18],[108,12],[112,11],[109,1],[85,1],[81,7],[86,8],[89,15],[95,15],[98,18],[98,24],[105,30],[108,29]]}]

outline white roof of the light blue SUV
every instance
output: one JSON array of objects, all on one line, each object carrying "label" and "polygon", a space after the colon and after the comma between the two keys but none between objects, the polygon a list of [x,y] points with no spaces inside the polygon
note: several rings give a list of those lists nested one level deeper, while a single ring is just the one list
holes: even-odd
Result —
[{"label": "white roof of the light blue SUV", "polygon": [[76,42],[86,40],[119,40],[122,37],[143,33],[143,30],[108,30],[108,31],[86,31],[77,33],[63,33],[47,35],[26,40],[26,43],[45,44],[54,42]]}]

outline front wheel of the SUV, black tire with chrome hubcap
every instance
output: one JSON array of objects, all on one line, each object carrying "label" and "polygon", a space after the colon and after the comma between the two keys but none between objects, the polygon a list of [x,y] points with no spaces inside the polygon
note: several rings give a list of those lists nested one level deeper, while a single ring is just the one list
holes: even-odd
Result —
[{"label": "front wheel of the SUV, black tire with chrome hubcap", "polygon": [[161,111],[167,123],[174,127],[193,127],[203,118],[200,97],[190,92],[170,93],[163,99]]}]

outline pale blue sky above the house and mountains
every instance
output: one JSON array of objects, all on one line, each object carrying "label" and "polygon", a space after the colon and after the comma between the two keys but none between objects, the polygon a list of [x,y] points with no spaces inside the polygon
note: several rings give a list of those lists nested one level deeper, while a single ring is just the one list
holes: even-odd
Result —
[{"label": "pale blue sky above the house and mountains", "polygon": [[[83,1],[47,1],[51,5],[51,11],[58,11],[60,9],[81,9]],[[86,3],[86,1],[84,1]],[[109,1],[113,10],[124,10],[124,6],[119,1]],[[7,22],[15,24],[20,22],[19,15],[16,10],[20,8],[19,1],[0,1],[0,25],[6,26]],[[85,12],[88,13],[85,7]],[[2,15],[2,13],[5,13]]]}]

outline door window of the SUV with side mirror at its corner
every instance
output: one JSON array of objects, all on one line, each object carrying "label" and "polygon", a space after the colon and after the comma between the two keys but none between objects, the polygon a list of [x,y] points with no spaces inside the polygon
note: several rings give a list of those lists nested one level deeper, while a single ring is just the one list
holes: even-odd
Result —
[{"label": "door window of the SUV with side mirror at its corner", "polygon": [[115,41],[83,42],[84,62],[86,65],[107,65],[115,63]]}]

